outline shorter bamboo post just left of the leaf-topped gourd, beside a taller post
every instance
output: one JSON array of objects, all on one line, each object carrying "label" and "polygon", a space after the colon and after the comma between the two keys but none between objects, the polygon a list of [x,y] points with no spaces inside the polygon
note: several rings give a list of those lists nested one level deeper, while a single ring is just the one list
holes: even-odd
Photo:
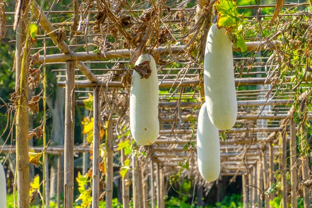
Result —
[{"label": "shorter bamboo post just left of the leaf-topped gourd, beside a taller post", "polygon": [[113,200],[113,159],[114,159],[114,150],[113,150],[113,120],[110,116],[110,119],[107,121],[107,139],[106,139],[106,193],[105,201],[106,207],[112,207]]}]

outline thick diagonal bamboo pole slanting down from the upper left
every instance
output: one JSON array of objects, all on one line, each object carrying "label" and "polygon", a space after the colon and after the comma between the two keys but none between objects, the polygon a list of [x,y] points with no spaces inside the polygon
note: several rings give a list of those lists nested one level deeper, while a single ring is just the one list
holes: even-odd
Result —
[{"label": "thick diagonal bamboo pole slanting down from the upper left", "polygon": [[[64,55],[70,54],[71,53],[70,47],[65,43],[64,40],[59,40],[59,36],[61,36],[61,35],[58,35],[58,34],[61,33],[62,31],[55,29],[55,27],[48,20],[48,18],[45,16],[45,14],[43,12],[40,12],[41,8],[36,1],[33,1],[33,4],[35,7],[34,13],[36,15],[36,18],[38,18],[42,29],[45,30],[46,34],[48,34],[50,36],[51,40],[60,49],[60,51],[62,51],[64,53]],[[66,33],[65,33],[65,36],[66,36]],[[43,61],[42,63],[47,63],[45,61],[44,56],[42,56],[42,61]],[[73,60],[68,60],[68,61],[77,61],[77,60],[73,58]],[[67,62],[67,61],[64,61],[64,62]],[[88,77],[88,79],[90,81],[92,81],[92,82],[98,81],[96,76],[91,72],[91,70],[82,61],[77,61],[77,66],[78,66],[79,70],[84,75],[86,75],[86,77]]]}]

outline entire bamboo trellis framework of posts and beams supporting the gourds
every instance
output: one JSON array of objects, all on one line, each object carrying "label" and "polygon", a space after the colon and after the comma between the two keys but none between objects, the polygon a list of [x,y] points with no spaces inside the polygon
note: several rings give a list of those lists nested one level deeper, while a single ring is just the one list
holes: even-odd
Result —
[{"label": "entire bamboo trellis framework of posts and beams supporting the gourds", "polygon": [[[135,49],[110,49],[100,53],[94,53],[91,51],[81,52],[78,49],[83,48],[83,46],[89,47],[90,38],[95,35],[107,35],[110,32],[97,32],[89,31],[88,27],[90,25],[96,25],[94,21],[94,16],[90,19],[88,17],[88,23],[85,31],[72,31],[75,33],[72,37],[78,40],[83,39],[85,44],[67,44],[65,42],[66,38],[69,36],[65,32],[65,38],[60,39],[59,34],[61,33],[60,26],[69,27],[73,24],[72,21],[51,23],[49,16],[47,14],[64,14],[66,17],[71,17],[71,15],[78,15],[77,11],[71,10],[41,10],[41,7],[33,1],[34,15],[38,19],[41,30],[47,34],[46,38],[49,45],[46,47],[47,50],[55,50],[58,48],[61,53],[46,55],[42,54],[40,50],[42,47],[30,48],[31,54],[35,54],[34,64],[54,64],[61,65],[63,69],[53,69],[52,72],[58,72],[58,78],[63,78],[62,81],[58,81],[58,87],[65,87],[65,144],[61,147],[48,147],[44,149],[47,154],[57,155],[59,160],[61,155],[64,154],[64,207],[73,207],[73,187],[74,187],[74,153],[89,152],[90,147],[74,147],[74,108],[83,106],[83,99],[86,98],[85,95],[81,93],[93,92],[94,95],[94,142],[93,142],[93,175],[92,175],[92,207],[97,208],[99,203],[99,145],[100,136],[99,128],[102,122],[103,115],[100,112],[102,109],[102,102],[104,99],[101,93],[105,95],[113,94],[119,90],[119,94],[127,95],[127,89],[124,83],[121,81],[121,73],[127,71],[127,68],[107,68],[111,63],[127,63],[129,58],[132,57]],[[77,1],[75,1],[77,3]],[[81,6],[83,6],[81,2]],[[285,7],[299,7],[308,6],[309,3],[288,3]],[[91,6],[92,7],[92,6]],[[258,9],[264,7],[275,7],[275,5],[249,5],[249,6],[239,6],[240,9]],[[169,9],[169,19],[165,19],[162,24],[167,21],[173,24],[190,24],[192,18],[184,18],[183,20],[172,19],[175,12],[187,12],[188,16],[192,16],[195,12],[193,8],[170,8]],[[87,12],[90,14],[97,14],[100,10],[97,10],[95,6],[89,8]],[[128,12],[143,13],[144,9],[134,9],[128,10]],[[12,15],[12,12],[6,12],[6,15]],[[22,43],[25,41],[24,36],[26,35],[26,17],[27,12],[21,17],[20,22],[16,29],[16,77],[19,77],[21,71],[21,60],[19,60],[22,54]],[[82,15],[82,14],[81,14]],[[136,14],[138,15],[138,14]],[[288,14],[285,14],[288,15]],[[303,15],[300,13],[290,14],[293,16]],[[257,18],[262,15],[257,15]],[[270,16],[270,15],[267,15]],[[266,16],[266,17],[267,17]],[[283,15],[282,15],[283,16]],[[172,17],[172,18],[171,18]],[[252,21],[252,18],[256,17],[254,15],[246,16],[245,19]],[[171,19],[170,19],[171,18]],[[77,23],[77,22],[76,22]],[[111,24],[112,21],[106,22],[107,25]],[[114,23],[114,22],[113,22]],[[115,22],[116,23],[116,22]],[[81,21],[80,24],[85,24]],[[77,26],[77,25],[76,25]],[[11,25],[7,25],[7,28],[11,28]],[[77,30],[77,28],[75,29]],[[81,34],[82,33],[82,34]],[[173,34],[175,35],[175,34]],[[41,40],[42,38],[37,38]],[[106,39],[105,39],[106,40]],[[247,39],[248,40],[248,39]],[[187,53],[188,45],[183,40],[178,40],[180,44],[176,46],[158,46],[153,47],[151,53],[159,55],[164,58],[173,59],[173,56],[181,55]],[[11,40],[14,43],[14,40]],[[93,43],[92,43],[93,44]],[[92,45],[90,44],[90,45]],[[120,43],[118,43],[120,44]],[[262,38],[254,38],[247,42],[248,51],[262,51],[266,54],[267,51],[275,50],[280,44],[280,41],[267,41]],[[239,52],[237,48],[233,48],[233,51]],[[38,52],[36,55],[36,52]],[[241,53],[238,53],[242,55]],[[185,56],[181,56],[181,62],[187,63],[189,60],[183,60]],[[246,57],[234,57],[234,61],[241,61],[246,59]],[[227,131],[226,140],[220,141],[221,144],[221,176],[242,176],[242,187],[243,187],[243,204],[244,208],[257,206],[265,207],[269,206],[269,200],[274,198],[274,194],[264,194],[260,193],[257,188],[261,191],[268,190],[270,187],[274,186],[276,179],[274,178],[274,159],[277,158],[279,153],[280,156],[280,168],[285,169],[287,166],[287,144],[289,143],[290,149],[290,174],[291,174],[291,204],[292,207],[297,207],[297,195],[296,188],[299,183],[297,177],[297,169],[299,168],[298,155],[296,152],[296,131],[297,127],[293,122],[293,111],[292,107],[294,103],[294,98],[296,92],[283,89],[283,95],[276,95],[276,89],[267,89],[265,85],[271,85],[279,81],[278,77],[271,77],[267,79],[262,75],[266,75],[264,70],[259,70],[259,68],[266,65],[269,57],[256,57],[254,62],[251,63],[252,66],[248,67],[248,72],[243,72],[242,74],[235,73],[235,84],[238,87],[237,90],[237,100],[238,100],[238,118],[236,125]],[[174,60],[174,59],[173,59]],[[103,68],[99,68],[102,64]],[[147,161],[139,160],[135,155],[133,156],[133,202],[136,208],[147,208],[147,199],[151,199],[151,206],[155,208],[164,208],[163,197],[166,195],[166,184],[169,175],[172,171],[179,169],[178,162],[183,162],[184,158],[193,158],[190,161],[190,169],[184,172],[185,175],[194,175],[197,173],[197,162],[194,159],[196,156],[196,148],[187,149],[185,151],[184,145],[189,142],[189,138],[192,133],[196,133],[192,127],[192,123],[187,115],[195,111],[198,114],[198,107],[200,103],[196,100],[201,97],[202,92],[197,92],[195,90],[196,86],[203,86],[203,82],[199,79],[198,71],[202,69],[201,66],[194,66],[188,68],[189,64],[181,64],[180,68],[174,68],[167,64],[164,64],[158,68],[159,73],[159,122],[160,122],[160,133],[158,140],[150,148],[145,150],[149,153]],[[274,65],[276,67],[277,65]],[[64,69],[64,67],[66,69]],[[246,68],[244,67],[244,68]],[[28,74],[27,61],[24,65],[24,70]],[[121,73],[118,73],[121,71]],[[173,72],[175,71],[175,72]],[[176,74],[176,71],[178,71]],[[64,73],[65,72],[65,73]],[[117,74],[116,80],[108,80],[109,75]],[[181,75],[182,74],[182,75]],[[242,76],[243,75],[243,76]],[[311,81],[311,80],[306,80]],[[284,83],[292,82],[292,77],[287,76]],[[16,79],[16,86],[18,87],[19,80]],[[27,78],[23,81],[24,93],[27,95]],[[240,87],[249,86],[248,89],[241,90]],[[86,89],[87,88],[87,89]],[[93,91],[90,90],[93,88]],[[183,89],[189,89],[187,92]],[[170,89],[170,90],[168,90]],[[19,89],[18,89],[19,90]],[[168,91],[168,92],[166,92]],[[75,102],[76,94],[79,94],[79,100]],[[270,97],[270,95],[274,95]],[[304,100],[310,94],[309,91],[305,91],[300,99]],[[266,95],[268,95],[266,97]],[[21,99],[23,102],[23,100]],[[24,101],[26,102],[26,101]],[[265,106],[269,106],[265,108]],[[127,109],[128,106],[123,106]],[[195,108],[195,109],[194,109]],[[114,108],[112,108],[114,110]],[[20,129],[27,129],[28,117],[27,114],[20,114],[19,119],[23,119]],[[102,116],[102,117],[101,117]],[[310,115],[308,115],[310,117]],[[118,137],[118,120],[120,116],[116,112],[112,112],[109,120],[107,122],[107,139],[106,139],[106,206],[112,207],[112,197],[113,197],[113,158],[114,152],[117,152],[116,140],[114,138]],[[257,123],[257,121],[260,121]],[[262,123],[261,123],[262,122]],[[194,129],[192,129],[194,128]],[[222,133],[222,131],[220,131]],[[18,137],[27,138],[27,132],[20,131]],[[281,143],[278,140],[281,140]],[[21,139],[18,139],[22,141]],[[27,142],[26,142],[27,143]],[[28,143],[27,143],[28,144]],[[1,148],[1,153],[3,152],[16,152],[20,157],[27,158],[28,146],[24,143],[19,143],[16,149],[8,146]],[[35,148],[35,151],[43,151],[41,148]],[[58,161],[59,161],[58,160]],[[125,160],[125,155],[123,150],[121,151],[120,161],[123,163]],[[310,179],[308,158],[302,159],[302,178],[303,180]],[[19,163],[27,163],[27,161],[19,160]],[[59,162],[60,163],[60,162]],[[23,164],[20,164],[23,166]],[[141,170],[145,167],[145,170]],[[264,171],[265,170],[265,171]],[[268,171],[266,171],[268,170]],[[24,169],[17,170],[17,186],[18,189],[18,207],[27,208],[28,201],[25,200],[29,195],[28,183],[21,183],[21,181],[27,181],[28,172]],[[58,174],[58,180],[60,173]],[[150,177],[150,193],[148,196],[148,191],[144,184],[146,182],[146,177]],[[248,178],[248,179],[247,179]],[[122,186],[122,196],[124,207],[129,207],[130,194],[129,187],[125,186],[125,181],[130,180],[130,174],[128,173],[123,179]],[[154,183],[156,182],[156,183]],[[246,182],[246,183],[245,183]],[[282,182],[282,202],[283,208],[287,208],[288,196],[287,196],[287,179],[286,174],[281,176]],[[129,183],[129,182],[128,182]],[[26,186],[26,187],[22,187]],[[311,197],[310,190],[308,188],[303,188],[303,197],[305,206],[307,207],[310,203],[309,198]],[[27,201],[27,202],[26,202]],[[58,199],[58,204],[59,204]],[[27,204],[27,205],[26,205]],[[29,205],[28,205],[29,206]]]}]

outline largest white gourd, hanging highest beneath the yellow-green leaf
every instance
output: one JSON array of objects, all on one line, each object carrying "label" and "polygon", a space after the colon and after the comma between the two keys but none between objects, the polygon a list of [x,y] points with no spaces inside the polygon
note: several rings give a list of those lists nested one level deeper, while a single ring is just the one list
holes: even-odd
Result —
[{"label": "largest white gourd, hanging highest beneath the yellow-green leaf", "polygon": [[237,118],[232,44],[225,29],[213,24],[207,36],[204,88],[208,115],[215,127],[226,130]]}]

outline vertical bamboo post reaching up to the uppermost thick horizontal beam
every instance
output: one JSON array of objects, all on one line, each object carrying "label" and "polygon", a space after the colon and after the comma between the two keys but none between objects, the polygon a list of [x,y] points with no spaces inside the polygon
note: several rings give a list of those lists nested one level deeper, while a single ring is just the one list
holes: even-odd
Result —
[{"label": "vertical bamboo post reaching up to the uppermost thick horizontal beam", "polygon": [[66,62],[65,135],[64,135],[64,208],[74,202],[74,102],[75,64]]}]

